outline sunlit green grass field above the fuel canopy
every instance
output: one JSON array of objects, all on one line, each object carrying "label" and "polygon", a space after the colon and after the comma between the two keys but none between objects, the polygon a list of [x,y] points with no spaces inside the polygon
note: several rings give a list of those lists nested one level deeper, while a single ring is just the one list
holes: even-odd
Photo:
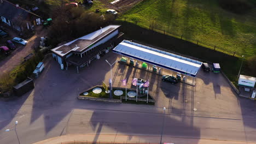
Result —
[{"label": "sunlit green grass field above the fuel canopy", "polygon": [[217,0],[147,0],[119,19],[237,56],[256,54],[256,9],[237,15]]}]

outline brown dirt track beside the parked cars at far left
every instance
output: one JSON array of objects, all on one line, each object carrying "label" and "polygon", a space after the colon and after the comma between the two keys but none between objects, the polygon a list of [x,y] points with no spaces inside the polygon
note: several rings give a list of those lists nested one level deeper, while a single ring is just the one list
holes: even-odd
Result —
[{"label": "brown dirt track beside the parked cars at far left", "polygon": [[47,33],[43,27],[36,27],[36,34],[27,40],[28,43],[26,46],[18,46],[18,44],[16,44],[18,49],[12,52],[10,56],[3,59],[3,61],[0,61],[0,77],[19,65],[28,54],[33,53],[33,47],[39,46],[40,37],[44,37],[46,34]]}]

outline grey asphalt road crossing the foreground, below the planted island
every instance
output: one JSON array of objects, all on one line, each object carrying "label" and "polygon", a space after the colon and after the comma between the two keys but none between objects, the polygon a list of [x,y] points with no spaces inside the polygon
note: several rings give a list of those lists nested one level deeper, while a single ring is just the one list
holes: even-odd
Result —
[{"label": "grey asphalt road crossing the foreground, below the planted island", "polygon": [[[75,101],[73,104],[67,101],[55,106],[24,105],[21,109],[33,108],[36,114],[20,112],[19,116],[16,116],[4,129],[13,128],[14,121],[18,120],[17,132],[21,143],[33,143],[67,134],[159,137],[161,133],[163,115],[160,114],[161,111],[155,111],[152,106],[90,103],[89,101]],[[131,109],[136,112],[132,112]],[[165,115],[163,135],[164,137],[256,142],[256,130],[245,127],[244,123],[255,123],[255,121]],[[2,132],[4,129],[0,134],[1,143],[17,143],[14,131]],[[97,136],[94,137],[94,141],[96,140]],[[147,139],[142,141],[150,142]]]}]

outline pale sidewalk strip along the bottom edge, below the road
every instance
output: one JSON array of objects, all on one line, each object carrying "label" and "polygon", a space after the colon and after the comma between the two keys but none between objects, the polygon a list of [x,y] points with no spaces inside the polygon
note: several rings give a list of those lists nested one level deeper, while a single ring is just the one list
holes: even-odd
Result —
[{"label": "pale sidewalk strip along the bottom edge, below the road", "polygon": [[[134,136],[134,135],[64,135],[53,137],[51,139],[36,142],[34,144],[64,144],[71,142],[98,142],[98,143],[160,143],[160,136]],[[206,140],[206,139],[192,139],[192,138],[179,138],[179,137],[162,137],[162,143],[175,143],[175,144],[253,144],[252,142],[240,141],[219,141],[219,140]],[[255,144],[255,143],[254,143]]]}]

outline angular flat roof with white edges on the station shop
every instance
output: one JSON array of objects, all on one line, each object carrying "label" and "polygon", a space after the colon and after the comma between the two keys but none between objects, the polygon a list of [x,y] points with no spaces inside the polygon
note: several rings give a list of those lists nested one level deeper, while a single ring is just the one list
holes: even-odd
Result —
[{"label": "angular flat roof with white edges on the station shop", "polygon": [[89,49],[91,46],[97,43],[97,41],[106,37],[108,34],[114,32],[119,27],[120,26],[118,25],[109,25],[107,27],[99,29],[98,31],[85,35],[81,38],[70,41],[67,44],[61,45],[59,47],[55,47],[51,51],[57,53],[60,56],[65,56],[67,53],[71,51],[75,51],[75,52],[86,51],[86,49]]}]

